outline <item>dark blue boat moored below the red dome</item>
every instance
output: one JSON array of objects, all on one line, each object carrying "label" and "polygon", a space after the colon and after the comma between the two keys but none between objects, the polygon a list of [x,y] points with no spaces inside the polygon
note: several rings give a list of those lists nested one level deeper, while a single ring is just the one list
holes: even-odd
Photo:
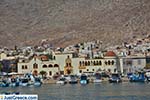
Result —
[{"label": "dark blue boat moored below the red dome", "polygon": [[111,74],[111,77],[109,78],[110,83],[120,83],[122,82],[121,76],[118,73]]}]

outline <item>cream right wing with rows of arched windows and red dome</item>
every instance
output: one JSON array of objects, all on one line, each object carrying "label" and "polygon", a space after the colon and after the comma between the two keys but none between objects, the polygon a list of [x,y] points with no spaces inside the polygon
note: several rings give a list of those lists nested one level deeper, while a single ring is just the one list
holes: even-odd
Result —
[{"label": "cream right wing with rows of arched windows and red dome", "polygon": [[97,71],[107,71],[110,73],[118,72],[117,58],[114,52],[109,51],[105,57],[98,59],[84,59],[79,62],[79,72],[81,73],[95,73]]}]

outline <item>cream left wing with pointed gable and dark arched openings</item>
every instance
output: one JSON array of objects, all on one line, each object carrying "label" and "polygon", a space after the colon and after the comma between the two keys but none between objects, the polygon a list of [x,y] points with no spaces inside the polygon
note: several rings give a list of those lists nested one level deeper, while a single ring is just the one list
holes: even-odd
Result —
[{"label": "cream left wing with pointed gable and dark arched openings", "polygon": [[34,75],[45,71],[47,76],[53,76],[59,72],[59,65],[46,55],[34,56],[31,59],[20,59],[18,73],[32,73]]}]

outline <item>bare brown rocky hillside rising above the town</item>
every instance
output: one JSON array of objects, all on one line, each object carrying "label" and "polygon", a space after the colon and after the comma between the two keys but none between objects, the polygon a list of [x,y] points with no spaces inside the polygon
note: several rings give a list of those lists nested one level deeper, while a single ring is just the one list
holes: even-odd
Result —
[{"label": "bare brown rocky hillside rising above the town", "polygon": [[150,0],[0,0],[0,45],[118,44],[150,32]]}]

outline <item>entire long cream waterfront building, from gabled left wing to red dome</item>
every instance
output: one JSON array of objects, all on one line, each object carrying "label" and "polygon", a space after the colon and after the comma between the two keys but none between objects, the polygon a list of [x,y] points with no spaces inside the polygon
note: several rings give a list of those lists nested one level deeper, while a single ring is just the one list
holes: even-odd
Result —
[{"label": "entire long cream waterfront building, from gabled left wing to red dome", "polygon": [[86,59],[85,57],[74,57],[71,53],[53,53],[53,59],[46,55],[34,56],[30,59],[20,59],[18,62],[18,73],[39,74],[45,71],[47,76],[55,74],[82,74],[95,73],[104,70],[111,73],[117,72],[116,55],[107,52],[104,58]]}]

